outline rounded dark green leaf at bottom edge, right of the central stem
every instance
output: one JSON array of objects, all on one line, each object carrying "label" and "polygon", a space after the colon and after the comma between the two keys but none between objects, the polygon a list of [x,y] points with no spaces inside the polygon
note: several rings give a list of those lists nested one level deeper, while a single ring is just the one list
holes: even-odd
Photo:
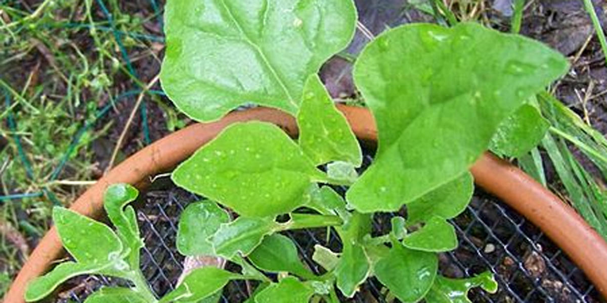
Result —
[{"label": "rounded dark green leaf at bottom edge, right of the central stem", "polygon": [[438,258],[435,253],[410,250],[398,244],[373,268],[379,282],[404,303],[424,298],[432,287],[436,270]]}]

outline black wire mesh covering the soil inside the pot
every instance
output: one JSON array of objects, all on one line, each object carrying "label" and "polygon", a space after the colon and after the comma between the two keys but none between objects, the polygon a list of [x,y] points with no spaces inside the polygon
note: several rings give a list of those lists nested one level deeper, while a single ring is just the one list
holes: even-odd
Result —
[{"label": "black wire mesh covering the soil inside the pot", "polygon": [[[369,162],[367,157],[365,162]],[[337,188],[344,191],[344,188]],[[183,256],[175,248],[177,222],[181,211],[195,195],[174,185],[145,193],[145,204],[138,208],[138,221],[146,247],[141,253],[141,268],[152,290],[161,296],[175,287],[183,270]],[[373,233],[390,228],[394,214],[379,213],[373,221]],[[499,284],[497,293],[470,291],[473,302],[602,302],[584,273],[573,264],[537,227],[527,222],[495,197],[476,190],[466,211],[451,220],[458,234],[456,250],[439,254],[439,270],[450,278],[465,278],[492,271]],[[314,245],[333,251],[341,243],[326,228],[290,231],[300,257],[314,273],[324,270],[311,260]],[[127,285],[119,279],[90,276],[78,278],[56,296],[55,302],[83,302],[103,285]],[[242,302],[254,290],[253,284],[231,282],[220,302]],[[386,290],[375,279],[362,285],[353,299],[344,302],[388,302]]]}]

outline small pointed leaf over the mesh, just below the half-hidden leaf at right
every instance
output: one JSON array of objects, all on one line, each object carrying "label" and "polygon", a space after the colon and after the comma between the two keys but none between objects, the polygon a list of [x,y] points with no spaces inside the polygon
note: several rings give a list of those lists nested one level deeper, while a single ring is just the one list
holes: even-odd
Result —
[{"label": "small pointed leaf over the mesh, just below the half-hidden leaf at right", "polygon": [[402,245],[413,250],[450,251],[457,248],[455,228],[443,218],[433,217],[420,230],[402,239]]}]

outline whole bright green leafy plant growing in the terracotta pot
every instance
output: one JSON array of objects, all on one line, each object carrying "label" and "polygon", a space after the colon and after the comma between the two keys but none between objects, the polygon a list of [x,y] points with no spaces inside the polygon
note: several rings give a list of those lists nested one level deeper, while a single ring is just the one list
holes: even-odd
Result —
[{"label": "whole bright green leafy plant growing in the terracotta pot", "polygon": [[[448,219],[466,208],[473,191],[467,170],[481,153],[490,147],[520,156],[543,137],[533,96],[568,69],[560,54],[473,23],[387,30],[354,64],[379,133],[373,164],[359,176],[361,147],[316,75],[353,36],[351,0],[169,0],[165,14],[162,85],[186,115],[212,121],[253,103],[297,118],[296,141],[273,124],[237,123],[172,173],[175,184],[206,197],[181,215],[178,250],[242,270],[197,268],[155,298],[138,270],[134,211],[125,208],[136,191],[115,185],[106,193],[115,232],[55,210],[75,262],[34,281],[29,301],[89,273],[133,286],[102,288],[87,302],[211,301],[234,279],[260,282],[248,300],[257,303],[338,302],[338,291],[352,297],[372,276],[402,302],[469,302],[472,287],[496,291],[490,273],[439,275],[437,253],[458,244]],[[346,185],[345,198],[331,185]],[[374,213],[404,205],[407,216],[392,218],[389,233],[371,236]],[[341,251],[316,245],[312,259],[322,275],[281,233],[299,228],[327,228],[342,241]]]}]

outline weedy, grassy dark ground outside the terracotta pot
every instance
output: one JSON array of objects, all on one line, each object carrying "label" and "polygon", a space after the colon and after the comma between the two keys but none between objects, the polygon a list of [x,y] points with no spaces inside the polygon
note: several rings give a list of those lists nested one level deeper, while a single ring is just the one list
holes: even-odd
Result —
[{"label": "weedy, grassy dark ground outside the terracotta pot", "polygon": [[[42,2],[42,13],[25,17]],[[402,0],[356,2],[374,35],[433,21]],[[447,2],[461,19],[509,30],[509,1]],[[605,1],[595,5],[604,22]],[[48,228],[53,204],[69,205],[110,162],[190,122],[168,99],[149,93],[145,112],[137,108],[129,120],[138,90],[160,69],[162,7],[155,0],[0,1],[0,196],[33,195],[0,200],[0,294]],[[13,22],[20,23],[6,27]],[[607,133],[605,57],[581,1],[527,1],[521,32],[571,59],[555,95]],[[367,41],[358,32],[348,52]],[[347,60],[332,59],[321,74],[335,98],[356,101]]]}]

